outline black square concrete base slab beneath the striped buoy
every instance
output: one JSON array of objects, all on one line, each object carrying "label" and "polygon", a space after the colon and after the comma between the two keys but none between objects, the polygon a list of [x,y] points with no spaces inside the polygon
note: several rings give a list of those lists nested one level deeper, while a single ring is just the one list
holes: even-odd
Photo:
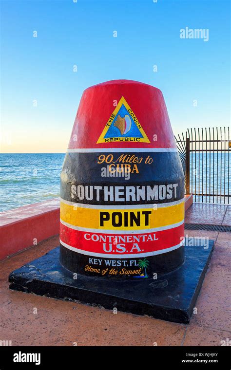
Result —
[{"label": "black square concrete base slab beneath the striped buoy", "polygon": [[152,278],[114,280],[69,273],[59,263],[59,247],[13,271],[10,289],[79,301],[105,309],[189,323],[214,241],[206,247],[186,240],[185,263],[172,273]]}]

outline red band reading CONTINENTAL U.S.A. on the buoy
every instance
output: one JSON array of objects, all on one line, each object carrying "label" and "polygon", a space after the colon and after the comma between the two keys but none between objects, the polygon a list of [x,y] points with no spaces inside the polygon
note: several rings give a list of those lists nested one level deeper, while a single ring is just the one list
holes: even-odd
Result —
[{"label": "red band reading CONTINENTAL U.S.A. on the buoy", "polygon": [[[147,230],[148,231],[148,230]],[[63,245],[76,248],[78,253],[112,258],[138,258],[145,255],[157,254],[154,252],[176,249],[184,237],[184,224],[168,230],[155,231],[143,234],[122,235],[93,233],[90,231],[79,231],[60,224],[60,241]],[[137,250],[138,245],[139,250]],[[106,252],[110,250],[110,252]],[[176,247],[176,248],[174,248]],[[72,249],[70,248],[70,249]],[[73,250],[72,249],[72,250]]]}]

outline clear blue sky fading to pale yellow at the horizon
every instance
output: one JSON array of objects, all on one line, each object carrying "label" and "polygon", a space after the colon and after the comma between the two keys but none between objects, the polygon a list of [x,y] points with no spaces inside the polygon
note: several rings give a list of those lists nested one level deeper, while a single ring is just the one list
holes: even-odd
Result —
[{"label": "clear blue sky fading to pale yellow at the horizon", "polygon": [[176,134],[229,125],[228,0],[0,3],[3,152],[65,152],[83,90],[120,78],[158,87]]}]

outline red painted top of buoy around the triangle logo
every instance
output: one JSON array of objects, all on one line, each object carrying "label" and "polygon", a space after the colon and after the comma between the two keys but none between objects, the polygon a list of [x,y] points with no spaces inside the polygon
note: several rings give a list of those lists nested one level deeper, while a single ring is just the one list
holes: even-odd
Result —
[{"label": "red painted top of buoy around the triangle logo", "polygon": [[[117,141],[111,142],[114,139],[110,138],[109,142],[100,142],[100,136],[103,138],[107,132],[107,123],[113,117],[116,104],[122,104],[122,97],[127,109],[130,107],[130,113],[135,115],[136,126],[142,127],[143,136],[145,134],[148,138],[146,142],[124,139],[132,135],[132,129],[126,133],[132,120],[127,114],[125,122],[120,111],[121,122],[117,121],[116,129],[113,122],[110,131],[111,136],[116,131],[116,136],[120,137],[115,139]],[[123,124],[127,125],[126,129]],[[151,85],[132,80],[113,80],[89,87],[82,94],[68,148],[176,148],[162,92]]]}]

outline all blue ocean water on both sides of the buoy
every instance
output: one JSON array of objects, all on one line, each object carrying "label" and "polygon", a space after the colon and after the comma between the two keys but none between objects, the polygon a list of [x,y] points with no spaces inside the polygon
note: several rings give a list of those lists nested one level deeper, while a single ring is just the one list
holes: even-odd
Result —
[{"label": "all blue ocean water on both sides of the buoy", "polygon": [[[231,203],[230,153],[191,153],[190,190],[215,194],[193,196],[193,201]],[[59,197],[64,157],[65,153],[0,154],[0,211]]]}]

